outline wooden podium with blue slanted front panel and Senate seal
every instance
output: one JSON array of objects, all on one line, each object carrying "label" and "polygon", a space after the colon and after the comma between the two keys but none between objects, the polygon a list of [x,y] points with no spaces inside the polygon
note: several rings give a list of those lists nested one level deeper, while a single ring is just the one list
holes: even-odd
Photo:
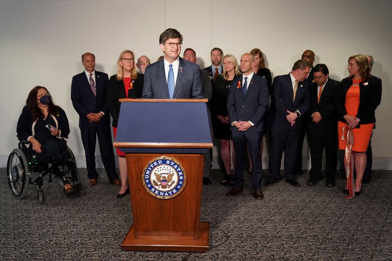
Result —
[{"label": "wooden podium with blue slanted front panel and Senate seal", "polygon": [[133,224],[124,250],[205,252],[200,222],[204,153],[213,146],[207,99],[120,99],[114,145],[126,153]]}]

